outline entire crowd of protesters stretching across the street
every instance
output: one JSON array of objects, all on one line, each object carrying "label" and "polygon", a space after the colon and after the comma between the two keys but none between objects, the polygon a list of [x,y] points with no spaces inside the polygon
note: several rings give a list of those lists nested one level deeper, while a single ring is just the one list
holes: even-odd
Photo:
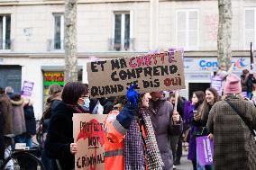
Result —
[{"label": "entire crowd of protesters stretching across the street", "polygon": [[[40,129],[41,160],[46,169],[71,170],[78,145],[73,139],[73,113],[108,114],[105,120],[105,169],[171,170],[180,165],[182,144],[194,170],[256,169],[256,81],[248,70],[241,78],[222,72],[223,95],[215,88],[195,91],[191,100],[169,91],[91,99],[88,85],[50,85]],[[178,98],[178,99],[177,99]],[[177,106],[176,106],[177,104]],[[32,147],[35,119],[32,102],[0,88],[0,159],[6,135]],[[198,163],[197,137],[214,140],[214,164]],[[134,147],[135,146],[135,147]]]}]

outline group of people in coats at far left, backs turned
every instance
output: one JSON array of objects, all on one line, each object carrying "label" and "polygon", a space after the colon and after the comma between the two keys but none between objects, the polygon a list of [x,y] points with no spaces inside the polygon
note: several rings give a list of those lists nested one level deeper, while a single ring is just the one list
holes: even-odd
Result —
[{"label": "group of people in coats at far left, backs turned", "polygon": [[[9,156],[14,143],[26,143],[32,148],[36,120],[32,101],[14,93],[11,86],[0,87],[0,160]],[[12,139],[14,138],[14,143]]]}]

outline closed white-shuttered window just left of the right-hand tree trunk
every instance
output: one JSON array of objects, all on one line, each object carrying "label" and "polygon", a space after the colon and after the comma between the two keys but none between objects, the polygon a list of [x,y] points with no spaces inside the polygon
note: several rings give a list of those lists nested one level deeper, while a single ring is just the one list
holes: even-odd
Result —
[{"label": "closed white-shuttered window just left of the right-hand tree trunk", "polygon": [[177,12],[177,46],[185,50],[198,49],[198,13],[197,10],[179,10]]}]

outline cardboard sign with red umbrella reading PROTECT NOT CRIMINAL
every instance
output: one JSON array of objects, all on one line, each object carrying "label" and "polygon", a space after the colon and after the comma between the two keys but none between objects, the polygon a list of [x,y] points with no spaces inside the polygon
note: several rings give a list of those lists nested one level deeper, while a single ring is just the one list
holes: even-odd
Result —
[{"label": "cardboard sign with red umbrella reading PROTECT NOT CRIMINAL", "polygon": [[103,170],[104,167],[104,114],[73,114],[73,136],[78,144],[75,156],[76,170]]}]

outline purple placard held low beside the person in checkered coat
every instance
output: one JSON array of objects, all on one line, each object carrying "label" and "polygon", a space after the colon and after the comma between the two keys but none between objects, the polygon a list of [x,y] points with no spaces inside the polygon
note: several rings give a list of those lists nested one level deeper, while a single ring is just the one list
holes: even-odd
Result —
[{"label": "purple placard held low beside the person in checkered coat", "polygon": [[197,137],[197,158],[200,166],[213,165],[214,143],[207,136]]}]

